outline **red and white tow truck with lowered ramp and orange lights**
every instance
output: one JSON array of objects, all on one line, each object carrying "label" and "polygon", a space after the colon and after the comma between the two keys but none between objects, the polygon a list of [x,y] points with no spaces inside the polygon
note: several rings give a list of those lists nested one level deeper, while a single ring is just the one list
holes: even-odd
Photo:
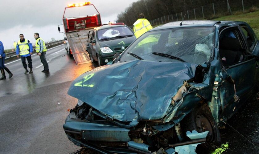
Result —
[{"label": "red and white tow truck with lowered ramp and orange lights", "polygon": [[[87,7],[87,8],[86,8]],[[91,63],[86,51],[88,32],[102,26],[101,15],[91,2],[73,3],[65,7],[61,24],[64,32],[65,49],[74,57],[77,65]]]}]

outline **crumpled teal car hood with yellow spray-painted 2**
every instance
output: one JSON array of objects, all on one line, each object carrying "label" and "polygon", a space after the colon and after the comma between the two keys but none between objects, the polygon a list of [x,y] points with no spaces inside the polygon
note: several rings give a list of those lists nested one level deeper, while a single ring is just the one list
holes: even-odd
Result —
[{"label": "crumpled teal car hood with yellow spray-painted 2", "polygon": [[142,60],[105,65],[80,75],[68,94],[120,121],[160,119],[196,67]]}]

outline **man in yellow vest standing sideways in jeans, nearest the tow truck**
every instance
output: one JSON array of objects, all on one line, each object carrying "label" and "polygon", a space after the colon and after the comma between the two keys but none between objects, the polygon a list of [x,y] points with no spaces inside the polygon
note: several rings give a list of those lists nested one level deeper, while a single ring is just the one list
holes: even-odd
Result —
[{"label": "man in yellow vest standing sideways in jeans, nearest the tow truck", "polygon": [[39,55],[40,61],[44,67],[44,69],[41,72],[43,73],[49,72],[48,62],[45,56],[47,51],[45,42],[43,41],[43,39],[39,37],[39,33],[34,33],[34,38],[36,39],[35,49],[36,49],[37,55]]}]

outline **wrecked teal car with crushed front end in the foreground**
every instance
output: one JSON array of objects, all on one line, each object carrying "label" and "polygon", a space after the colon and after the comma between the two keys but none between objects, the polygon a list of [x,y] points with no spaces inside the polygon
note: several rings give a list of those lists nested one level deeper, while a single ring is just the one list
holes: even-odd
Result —
[{"label": "wrecked teal car with crushed front end in the foreground", "polygon": [[207,153],[220,146],[219,128],[257,88],[258,55],[245,22],[158,26],[113,64],[72,82],[68,94],[78,104],[64,131],[77,146],[102,153],[174,153],[193,144]]}]

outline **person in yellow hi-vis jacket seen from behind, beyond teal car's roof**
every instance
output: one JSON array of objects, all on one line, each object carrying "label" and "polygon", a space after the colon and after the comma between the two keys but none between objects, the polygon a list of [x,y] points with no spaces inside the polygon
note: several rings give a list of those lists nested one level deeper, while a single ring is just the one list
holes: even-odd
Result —
[{"label": "person in yellow hi-vis jacket seen from behind, beyond teal car's roof", "polygon": [[150,22],[147,19],[145,19],[145,16],[143,13],[138,15],[138,20],[133,25],[134,25],[134,28],[133,28],[134,33],[137,39],[142,34],[152,29]]}]

